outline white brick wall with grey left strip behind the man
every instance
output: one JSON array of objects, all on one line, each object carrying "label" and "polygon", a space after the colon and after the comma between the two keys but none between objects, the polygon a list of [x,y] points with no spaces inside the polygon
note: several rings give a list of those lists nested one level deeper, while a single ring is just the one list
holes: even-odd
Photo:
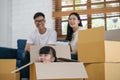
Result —
[{"label": "white brick wall with grey left strip behind the man", "polygon": [[0,0],[0,10],[0,46],[16,48],[18,39],[27,39],[35,28],[36,12],[45,14],[46,27],[54,27],[52,0]]}]

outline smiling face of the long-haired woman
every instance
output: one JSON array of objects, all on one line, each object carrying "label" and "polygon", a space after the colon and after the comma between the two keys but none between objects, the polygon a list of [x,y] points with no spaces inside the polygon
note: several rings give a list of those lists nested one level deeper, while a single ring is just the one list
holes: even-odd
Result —
[{"label": "smiling face of the long-haired woman", "polygon": [[80,20],[78,20],[77,16],[71,15],[69,17],[68,23],[71,28],[76,28],[79,26]]}]

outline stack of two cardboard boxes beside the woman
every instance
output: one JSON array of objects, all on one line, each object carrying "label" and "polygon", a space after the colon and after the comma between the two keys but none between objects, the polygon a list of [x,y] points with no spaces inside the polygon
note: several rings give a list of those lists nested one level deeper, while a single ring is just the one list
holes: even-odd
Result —
[{"label": "stack of two cardboard boxes beside the woman", "polygon": [[120,80],[120,42],[104,40],[104,27],[79,32],[78,60],[85,63],[88,80]]}]

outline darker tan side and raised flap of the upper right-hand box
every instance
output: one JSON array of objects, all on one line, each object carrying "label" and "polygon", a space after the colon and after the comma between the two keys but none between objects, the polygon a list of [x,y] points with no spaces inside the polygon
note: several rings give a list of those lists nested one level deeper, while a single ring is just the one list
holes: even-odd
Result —
[{"label": "darker tan side and raised flap of the upper right-hand box", "polygon": [[104,27],[79,31],[78,59],[84,63],[104,62]]}]

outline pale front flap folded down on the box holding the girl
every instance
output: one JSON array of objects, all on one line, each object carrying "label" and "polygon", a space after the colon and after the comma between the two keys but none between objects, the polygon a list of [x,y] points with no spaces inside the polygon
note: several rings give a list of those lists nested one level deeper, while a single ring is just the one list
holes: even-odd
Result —
[{"label": "pale front flap folded down on the box holding the girl", "polygon": [[39,79],[72,79],[87,78],[81,62],[35,63],[36,76]]}]

